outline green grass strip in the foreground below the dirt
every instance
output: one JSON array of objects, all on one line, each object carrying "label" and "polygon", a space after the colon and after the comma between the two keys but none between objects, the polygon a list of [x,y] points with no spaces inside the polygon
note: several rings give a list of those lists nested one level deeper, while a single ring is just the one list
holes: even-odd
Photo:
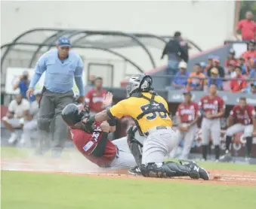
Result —
[{"label": "green grass strip in the foreground below the dirt", "polygon": [[3,209],[246,208],[256,187],[2,171]]}]

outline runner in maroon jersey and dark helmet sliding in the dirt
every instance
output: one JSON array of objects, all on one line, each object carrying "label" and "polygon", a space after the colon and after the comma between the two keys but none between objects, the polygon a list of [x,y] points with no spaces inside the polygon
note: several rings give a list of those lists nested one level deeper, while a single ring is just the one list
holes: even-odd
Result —
[{"label": "runner in maroon jersey and dark helmet sliding in the dirt", "polygon": [[[130,168],[135,166],[134,156],[116,146],[115,142],[127,140],[109,141],[107,135],[116,129],[115,120],[103,123],[94,123],[94,130],[88,131],[85,124],[89,111],[84,105],[69,104],[62,111],[62,118],[71,129],[72,141],[85,158],[98,165],[100,168]],[[120,144],[120,143],[119,143]]]}]

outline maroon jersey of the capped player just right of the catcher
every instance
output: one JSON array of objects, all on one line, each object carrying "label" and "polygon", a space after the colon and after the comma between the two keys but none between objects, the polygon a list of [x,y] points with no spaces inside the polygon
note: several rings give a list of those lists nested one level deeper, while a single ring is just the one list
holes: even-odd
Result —
[{"label": "maroon jersey of the capped player just right of the catcher", "polygon": [[199,116],[199,106],[196,102],[180,103],[176,115],[180,117],[181,123],[190,123]]}]

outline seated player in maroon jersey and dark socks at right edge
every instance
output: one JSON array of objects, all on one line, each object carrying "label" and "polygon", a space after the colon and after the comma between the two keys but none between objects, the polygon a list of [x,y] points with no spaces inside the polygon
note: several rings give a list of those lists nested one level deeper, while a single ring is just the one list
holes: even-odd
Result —
[{"label": "seated player in maroon jersey and dark socks at right edge", "polygon": [[247,104],[245,97],[239,98],[239,104],[230,111],[229,128],[226,132],[226,153],[221,156],[222,162],[232,160],[230,144],[233,135],[238,132],[244,132],[247,147],[246,159],[248,159],[251,156],[252,135],[256,132],[256,112],[254,106]]}]

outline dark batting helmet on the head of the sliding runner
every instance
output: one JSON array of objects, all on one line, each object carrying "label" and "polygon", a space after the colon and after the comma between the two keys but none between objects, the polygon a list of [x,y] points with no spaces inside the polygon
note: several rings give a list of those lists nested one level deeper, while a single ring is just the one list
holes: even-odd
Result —
[{"label": "dark batting helmet on the head of the sliding runner", "polygon": [[85,118],[90,117],[90,110],[87,105],[80,111],[78,105],[69,104],[61,112],[61,117],[68,126],[75,126]]}]

